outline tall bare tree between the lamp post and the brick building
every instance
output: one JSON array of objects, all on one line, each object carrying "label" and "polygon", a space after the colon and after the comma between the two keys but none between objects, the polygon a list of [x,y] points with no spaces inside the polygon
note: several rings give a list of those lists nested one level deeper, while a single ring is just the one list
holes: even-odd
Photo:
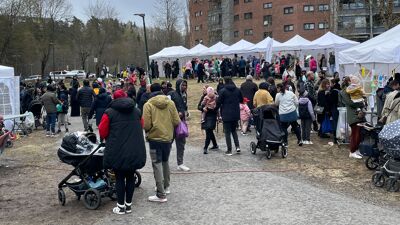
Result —
[{"label": "tall bare tree between the lamp post and the brick building", "polygon": [[154,5],[156,14],[156,22],[159,24],[161,29],[165,30],[166,34],[166,45],[170,46],[179,30],[179,23],[183,18],[182,4],[178,0],[160,0]]}]

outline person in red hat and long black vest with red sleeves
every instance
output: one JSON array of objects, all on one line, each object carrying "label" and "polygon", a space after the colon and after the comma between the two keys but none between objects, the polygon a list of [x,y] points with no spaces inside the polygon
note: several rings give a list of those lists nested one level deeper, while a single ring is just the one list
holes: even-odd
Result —
[{"label": "person in red hat and long black vest with red sleeves", "polygon": [[104,169],[112,169],[116,178],[118,202],[113,212],[125,214],[132,212],[134,173],[146,164],[146,147],[135,102],[122,90],[114,92],[113,98],[101,119],[99,133],[106,140]]}]

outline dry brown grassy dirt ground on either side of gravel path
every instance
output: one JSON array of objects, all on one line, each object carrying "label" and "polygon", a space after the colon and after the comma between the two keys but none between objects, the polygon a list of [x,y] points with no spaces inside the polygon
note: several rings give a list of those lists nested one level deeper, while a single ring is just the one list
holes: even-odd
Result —
[{"label": "dry brown grassy dirt ground on either side of gravel path", "polygon": [[[216,87],[215,83],[211,85]],[[200,113],[196,110],[201,90],[200,85],[189,82],[191,136],[188,145],[197,148],[201,148],[205,139],[199,129]],[[223,137],[221,126],[217,137]],[[265,170],[287,171],[280,174],[333,192],[400,208],[400,194],[374,187],[371,184],[373,172],[365,167],[363,160],[349,159],[347,146],[329,146],[327,142],[330,140],[320,140],[315,134],[312,138],[314,145],[297,147],[295,137],[291,135],[289,145],[296,147],[291,148],[290,156],[285,160],[278,157],[266,160],[261,153],[257,157],[265,161]],[[59,221],[90,224],[93,218],[103,213],[95,210],[88,214],[77,201],[68,202],[77,207],[59,207],[56,187],[71,170],[70,166],[58,160],[59,139],[44,138],[42,130],[34,131],[28,137],[17,140],[14,147],[6,149],[0,156],[0,224],[59,224]],[[242,149],[248,150],[249,146],[242,146]]]}]

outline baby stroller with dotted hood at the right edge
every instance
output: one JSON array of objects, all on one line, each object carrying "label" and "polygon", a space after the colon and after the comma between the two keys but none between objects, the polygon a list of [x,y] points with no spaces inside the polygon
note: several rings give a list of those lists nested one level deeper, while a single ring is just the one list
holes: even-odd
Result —
[{"label": "baby stroller with dotted hood at the right edge", "polygon": [[386,190],[400,190],[400,120],[386,125],[379,133],[379,140],[387,154],[386,163],[372,176],[376,187],[386,185]]}]

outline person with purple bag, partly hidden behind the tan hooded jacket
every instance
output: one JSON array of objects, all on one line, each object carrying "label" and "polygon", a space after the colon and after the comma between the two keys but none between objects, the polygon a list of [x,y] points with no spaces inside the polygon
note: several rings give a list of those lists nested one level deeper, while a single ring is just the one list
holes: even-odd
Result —
[{"label": "person with purple bag, partly hidden behind the tan hooded jacket", "polygon": [[[176,110],[179,113],[179,117],[182,121],[186,119],[187,115],[187,81],[178,79],[176,81],[176,90],[172,90],[168,93],[171,96],[171,100],[175,103]],[[190,168],[183,164],[183,155],[185,152],[186,138],[175,137],[176,144],[176,161],[178,163],[178,170],[190,171]]]}]

